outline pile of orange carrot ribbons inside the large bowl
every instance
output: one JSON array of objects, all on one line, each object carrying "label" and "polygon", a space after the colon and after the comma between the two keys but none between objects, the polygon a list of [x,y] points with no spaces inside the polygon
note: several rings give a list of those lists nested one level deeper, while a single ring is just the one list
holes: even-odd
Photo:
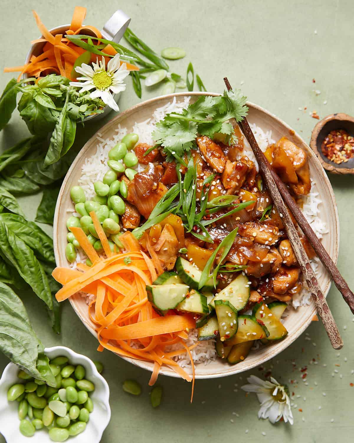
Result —
[{"label": "pile of orange carrot ribbons inside the large bowl", "polygon": [[[108,245],[107,237],[96,214],[91,213],[95,229],[102,245]],[[63,285],[56,298],[67,299],[79,291],[93,294],[88,307],[92,324],[96,325],[98,350],[115,352],[124,358],[153,363],[149,385],[153,385],[163,365],[180,377],[192,381],[194,391],[195,369],[191,350],[187,346],[186,331],[195,327],[190,315],[159,316],[147,300],[146,284],[151,284],[160,272],[161,264],[140,250],[139,242],[126,232],[120,239],[127,252],[109,253],[99,257],[81,228],[71,228],[77,241],[92,261],[92,266],[78,264],[78,269],[55,268],[53,277]],[[92,252],[93,249],[93,252]],[[127,262],[127,257],[130,258]],[[125,261],[124,261],[125,260]],[[167,346],[180,345],[180,349],[168,351]],[[192,362],[192,377],[178,365],[174,357],[188,353]]]}]

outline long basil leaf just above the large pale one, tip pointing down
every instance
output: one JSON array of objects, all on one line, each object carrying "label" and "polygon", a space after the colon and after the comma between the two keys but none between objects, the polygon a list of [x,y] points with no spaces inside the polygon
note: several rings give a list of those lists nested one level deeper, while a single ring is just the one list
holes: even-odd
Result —
[{"label": "long basil leaf just above the large pale one, tip pointing down", "polygon": [[0,221],[0,250],[3,256],[17,269],[20,276],[31,286],[49,309],[53,309],[52,295],[46,274],[32,249]]}]

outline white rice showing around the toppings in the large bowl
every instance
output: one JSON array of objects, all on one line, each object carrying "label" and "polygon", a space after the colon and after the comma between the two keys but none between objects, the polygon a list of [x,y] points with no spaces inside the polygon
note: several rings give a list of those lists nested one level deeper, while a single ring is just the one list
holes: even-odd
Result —
[{"label": "white rice showing around the toppings in the large bowl", "polygon": [[[189,105],[190,97],[185,97],[184,101],[178,102],[176,101],[176,97],[173,98],[171,103],[168,103],[161,108],[156,109],[153,113],[153,116],[145,120],[143,122],[137,123],[135,122],[133,126],[133,132],[139,135],[139,140],[143,143],[154,144],[154,140],[152,139],[152,132],[154,131],[154,127],[158,121],[162,120],[163,117],[167,113],[175,112],[181,113],[183,108],[186,108]],[[252,129],[255,139],[261,150],[264,152],[269,144],[275,143],[275,140],[272,139],[272,131],[263,131],[262,128],[259,128],[256,124],[250,124],[250,128]],[[116,134],[110,139],[103,139],[100,133],[97,133],[97,149],[96,153],[91,157],[85,159],[85,164],[82,167],[81,177],[78,181],[78,184],[84,189],[86,198],[93,198],[95,195],[95,191],[93,188],[93,183],[96,181],[102,181],[104,174],[109,170],[107,161],[108,161],[108,152],[115,146],[115,144],[119,143],[120,140],[127,134],[127,128],[122,127],[120,124],[118,128],[115,129]],[[250,148],[247,140],[244,140],[244,150],[242,154],[239,155],[247,155],[247,157],[252,160],[256,168],[258,170],[258,163],[254,157],[254,153]],[[142,168],[145,168],[144,165],[138,165],[138,171]],[[323,234],[327,233],[327,227],[325,222],[320,219],[320,209],[319,205],[321,204],[321,200],[319,199],[319,193],[316,191],[316,183],[312,182],[312,190],[310,194],[304,197],[304,204],[302,208],[302,212],[306,217],[307,221],[310,223],[312,229],[316,233],[317,237],[322,238]],[[69,210],[73,212],[74,210]],[[74,213],[73,215],[79,215]],[[73,268],[77,267],[77,263],[84,263],[86,260],[86,256],[82,252],[77,253],[76,261],[71,264]],[[319,259],[316,257],[312,260],[312,268],[319,278],[324,271],[323,265],[320,263]],[[92,294],[81,294],[83,297],[86,297],[87,303],[90,303],[94,298]],[[304,282],[304,288],[300,291],[299,294],[296,294],[292,298],[292,305],[289,304],[289,309],[285,311],[284,317],[289,315],[289,310],[296,309],[299,306],[306,306],[311,303],[311,294],[306,287],[306,283]],[[186,340],[188,346],[193,345],[197,341],[197,330],[191,330],[189,332],[189,338]],[[171,346],[171,350],[179,349],[180,345]],[[217,354],[215,351],[215,340],[205,340],[203,342],[199,342],[199,345],[196,346],[192,351],[192,357],[194,363],[200,364],[204,363],[207,365],[211,361],[214,361]],[[189,357],[186,354],[181,354],[174,358],[178,361],[179,365],[183,367],[190,368]]]}]

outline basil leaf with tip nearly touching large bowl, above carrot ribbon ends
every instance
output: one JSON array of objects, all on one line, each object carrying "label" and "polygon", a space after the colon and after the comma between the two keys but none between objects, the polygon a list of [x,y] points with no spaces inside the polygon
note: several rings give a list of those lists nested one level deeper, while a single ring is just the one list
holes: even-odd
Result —
[{"label": "basil leaf with tip nearly touching large bowl, above carrot ribbon ends", "polygon": [[[16,214],[0,214],[0,222],[4,222],[16,237],[29,246],[38,260],[46,260],[55,266],[53,240],[33,221]],[[53,271],[50,270],[49,274]]]}]

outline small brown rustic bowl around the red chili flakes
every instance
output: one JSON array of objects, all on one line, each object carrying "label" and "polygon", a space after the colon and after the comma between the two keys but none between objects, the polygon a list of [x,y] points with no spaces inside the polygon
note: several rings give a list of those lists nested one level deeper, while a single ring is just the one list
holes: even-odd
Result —
[{"label": "small brown rustic bowl around the red chili flakes", "polygon": [[313,128],[310,146],[315,152],[320,163],[326,171],[334,174],[354,174],[354,157],[346,163],[336,164],[328,159],[322,152],[322,142],[331,131],[344,129],[348,134],[354,136],[354,117],[343,113],[327,115]]}]

